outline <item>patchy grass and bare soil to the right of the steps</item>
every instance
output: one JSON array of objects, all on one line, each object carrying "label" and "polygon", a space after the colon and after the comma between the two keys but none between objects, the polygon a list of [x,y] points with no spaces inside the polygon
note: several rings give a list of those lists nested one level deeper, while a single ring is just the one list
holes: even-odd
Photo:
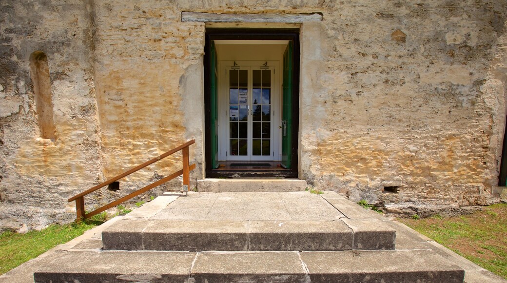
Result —
[{"label": "patchy grass and bare soil to the right of the steps", "polygon": [[507,279],[507,204],[470,215],[399,219],[457,254]]}]

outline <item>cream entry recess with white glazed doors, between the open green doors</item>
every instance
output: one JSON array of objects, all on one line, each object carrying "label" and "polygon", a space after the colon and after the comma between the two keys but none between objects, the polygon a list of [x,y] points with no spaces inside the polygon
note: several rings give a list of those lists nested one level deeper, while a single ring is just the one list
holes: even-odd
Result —
[{"label": "cream entry recess with white glazed doors, between the open green doors", "polygon": [[285,41],[215,41],[219,161],[281,160]]}]

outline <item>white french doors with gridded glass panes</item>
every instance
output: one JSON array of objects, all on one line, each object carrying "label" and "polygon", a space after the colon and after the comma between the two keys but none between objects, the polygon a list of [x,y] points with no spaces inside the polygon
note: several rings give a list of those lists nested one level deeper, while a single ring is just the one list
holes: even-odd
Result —
[{"label": "white french doors with gridded glass panes", "polygon": [[225,117],[221,126],[225,134],[221,134],[220,143],[225,160],[274,160],[275,152],[278,153],[276,64],[271,62],[274,65],[261,67],[262,63],[240,61],[234,67],[222,64],[225,78],[221,105],[225,111],[221,113]]}]

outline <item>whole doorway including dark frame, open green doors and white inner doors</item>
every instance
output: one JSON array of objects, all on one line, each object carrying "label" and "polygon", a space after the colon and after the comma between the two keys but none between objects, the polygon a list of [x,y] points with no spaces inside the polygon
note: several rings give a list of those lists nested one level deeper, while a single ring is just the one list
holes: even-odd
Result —
[{"label": "whole doorway including dark frame, open green doors and white inner doors", "polygon": [[299,29],[207,28],[204,74],[206,178],[297,178]]}]

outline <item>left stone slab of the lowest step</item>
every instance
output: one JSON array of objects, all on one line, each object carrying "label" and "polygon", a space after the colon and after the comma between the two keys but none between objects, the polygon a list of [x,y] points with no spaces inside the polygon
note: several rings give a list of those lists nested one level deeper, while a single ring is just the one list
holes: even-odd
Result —
[{"label": "left stone slab of the lowest step", "polygon": [[34,272],[38,282],[184,282],[195,253],[58,252]]}]

